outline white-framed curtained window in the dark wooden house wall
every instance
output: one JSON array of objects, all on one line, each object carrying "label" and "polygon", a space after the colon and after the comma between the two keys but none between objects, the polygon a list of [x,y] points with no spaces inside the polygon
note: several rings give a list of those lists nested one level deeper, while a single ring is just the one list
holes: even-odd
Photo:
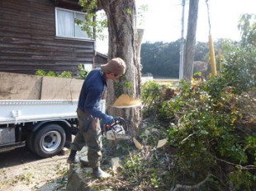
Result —
[{"label": "white-framed curtained window in the dark wooden house wall", "polygon": [[84,16],[85,14],[81,12],[56,8],[56,35],[60,37],[90,40],[87,32],[82,30],[81,25],[77,25],[75,22],[76,19],[85,21]]}]

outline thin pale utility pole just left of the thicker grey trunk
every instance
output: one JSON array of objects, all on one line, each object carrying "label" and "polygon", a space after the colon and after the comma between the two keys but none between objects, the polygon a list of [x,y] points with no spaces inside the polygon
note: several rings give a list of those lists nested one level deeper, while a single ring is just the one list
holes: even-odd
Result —
[{"label": "thin pale utility pole just left of the thicker grey trunk", "polygon": [[184,65],[184,12],[185,12],[185,0],[183,1],[183,15],[182,15],[182,40],[180,46],[180,58],[179,58],[179,80],[183,79],[183,65]]}]

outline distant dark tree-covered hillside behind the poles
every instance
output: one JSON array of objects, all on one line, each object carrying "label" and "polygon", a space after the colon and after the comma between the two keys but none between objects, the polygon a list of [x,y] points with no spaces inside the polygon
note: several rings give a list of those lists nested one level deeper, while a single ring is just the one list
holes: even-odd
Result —
[{"label": "distant dark tree-covered hillside behind the poles", "polygon": [[[141,44],[141,63],[143,73],[152,73],[154,77],[162,78],[178,78],[179,73],[179,49],[181,40],[176,40],[170,43],[146,42]],[[227,39],[219,39],[214,42],[216,48],[216,58],[219,57],[218,49],[221,49],[220,56],[228,54],[227,45],[235,47],[239,42]],[[208,67],[208,72],[211,71],[209,63],[209,43],[197,42],[195,49],[195,62],[200,61],[205,63]],[[219,61],[218,61],[219,62]],[[196,68],[194,68],[196,69]],[[197,72],[202,71],[204,68],[197,69]],[[199,71],[198,71],[199,70]],[[209,74],[209,73],[207,73]]]}]

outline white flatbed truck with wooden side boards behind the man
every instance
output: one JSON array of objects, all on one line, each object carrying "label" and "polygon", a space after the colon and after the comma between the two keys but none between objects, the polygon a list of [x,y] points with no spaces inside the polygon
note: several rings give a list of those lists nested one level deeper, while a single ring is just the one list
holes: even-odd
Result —
[{"label": "white flatbed truck with wooden side boards behind the man", "polygon": [[77,79],[0,72],[0,152],[26,145],[38,156],[50,157],[68,146],[78,131],[82,84]]}]

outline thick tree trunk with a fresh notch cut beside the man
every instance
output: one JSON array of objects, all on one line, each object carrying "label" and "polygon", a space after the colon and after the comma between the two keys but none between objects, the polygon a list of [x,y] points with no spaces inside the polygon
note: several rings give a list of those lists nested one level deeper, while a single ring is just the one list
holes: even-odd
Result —
[{"label": "thick tree trunk with a fresh notch cut beside the man", "polygon": [[127,119],[130,128],[136,130],[141,121],[140,106],[129,109],[110,106],[121,94],[128,94],[133,98],[140,98],[141,94],[135,0],[101,0],[100,3],[108,21],[108,58],[120,57],[126,62],[126,74],[108,83],[107,112]]}]

